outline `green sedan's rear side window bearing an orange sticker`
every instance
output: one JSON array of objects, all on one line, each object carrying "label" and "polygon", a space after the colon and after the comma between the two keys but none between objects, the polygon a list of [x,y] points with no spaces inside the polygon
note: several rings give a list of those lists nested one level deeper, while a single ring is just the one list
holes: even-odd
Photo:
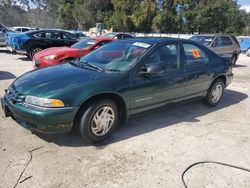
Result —
[{"label": "green sedan's rear side window bearing an orange sticker", "polygon": [[193,44],[183,44],[183,48],[185,52],[185,64],[187,66],[208,63],[208,55],[198,46]]}]

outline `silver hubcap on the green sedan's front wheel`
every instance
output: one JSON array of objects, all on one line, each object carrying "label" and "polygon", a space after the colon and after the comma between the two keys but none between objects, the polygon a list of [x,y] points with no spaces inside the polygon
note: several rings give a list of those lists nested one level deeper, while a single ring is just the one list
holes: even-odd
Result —
[{"label": "silver hubcap on the green sedan's front wheel", "polygon": [[97,110],[91,122],[91,130],[96,136],[107,134],[114,124],[115,113],[109,106]]}]

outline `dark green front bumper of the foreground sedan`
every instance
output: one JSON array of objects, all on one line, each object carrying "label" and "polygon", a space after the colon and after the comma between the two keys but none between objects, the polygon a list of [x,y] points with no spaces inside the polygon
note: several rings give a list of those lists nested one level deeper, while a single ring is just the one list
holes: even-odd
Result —
[{"label": "dark green front bumper of the foreground sedan", "polygon": [[6,117],[11,116],[28,130],[47,134],[71,131],[78,111],[78,107],[40,108],[23,103],[13,104],[6,95],[1,104]]}]

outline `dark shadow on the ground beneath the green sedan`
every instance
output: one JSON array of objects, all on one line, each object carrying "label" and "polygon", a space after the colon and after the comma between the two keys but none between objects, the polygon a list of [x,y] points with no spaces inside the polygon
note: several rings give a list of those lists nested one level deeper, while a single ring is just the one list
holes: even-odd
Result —
[{"label": "dark shadow on the ground beneath the green sedan", "polygon": [[[198,117],[227,108],[246,98],[248,98],[248,95],[244,93],[225,90],[220,104],[216,107],[208,107],[201,100],[196,100],[176,103],[155,111],[139,114],[131,118],[127,124],[119,126],[108,140],[96,145],[96,147],[101,149],[108,144],[120,142],[164,127],[174,126],[180,122],[198,122]],[[89,146],[76,133],[61,135],[37,134],[37,136],[59,146]]]}]

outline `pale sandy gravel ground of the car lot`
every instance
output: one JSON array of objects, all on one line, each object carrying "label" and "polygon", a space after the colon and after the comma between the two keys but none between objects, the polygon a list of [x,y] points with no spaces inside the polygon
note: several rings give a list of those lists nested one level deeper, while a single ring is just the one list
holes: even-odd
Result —
[{"label": "pale sandy gravel ground of the car lot", "polygon": [[[75,134],[31,134],[0,117],[0,187],[184,187],[200,161],[250,169],[250,57],[241,55],[221,103],[194,101],[131,119],[102,145]],[[25,56],[0,50],[0,97],[32,69]],[[250,187],[250,173],[206,163],[185,175],[189,188]]]}]

